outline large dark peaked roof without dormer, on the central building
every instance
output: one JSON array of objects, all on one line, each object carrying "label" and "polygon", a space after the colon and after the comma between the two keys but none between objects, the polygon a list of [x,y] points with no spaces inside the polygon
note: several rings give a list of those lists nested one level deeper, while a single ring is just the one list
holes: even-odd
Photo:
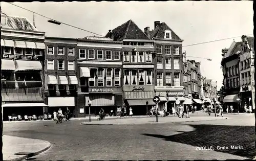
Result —
[{"label": "large dark peaked roof without dormer, on the central building", "polygon": [[[149,39],[131,19],[112,30],[112,32],[115,41],[120,41],[123,39]],[[106,34],[105,37],[111,37],[110,33]]]}]

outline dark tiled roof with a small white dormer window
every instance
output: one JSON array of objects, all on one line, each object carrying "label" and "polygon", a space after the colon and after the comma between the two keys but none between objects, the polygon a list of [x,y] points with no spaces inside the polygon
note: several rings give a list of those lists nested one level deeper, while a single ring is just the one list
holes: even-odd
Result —
[{"label": "dark tiled roof with a small white dormer window", "polygon": [[170,30],[171,31],[171,35],[172,35],[172,39],[176,39],[176,40],[181,40],[180,37],[178,35],[176,35],[176,33],[170,29],[168,27],[168,25],[165,24],[165,22],[162,22],[161,24],[159,24],[150,34],[150,38],[152,39],[153,37],[155,38],[164,38],[164,31],[165,30]]}]

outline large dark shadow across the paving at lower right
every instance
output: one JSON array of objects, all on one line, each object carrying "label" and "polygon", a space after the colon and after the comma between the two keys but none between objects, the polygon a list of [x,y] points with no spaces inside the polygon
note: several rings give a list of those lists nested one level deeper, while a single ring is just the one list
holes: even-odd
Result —
[{"label": "large dark shadow across the paving at lower right", "polygon": [[[187,125],[187,124],[186,124]],[[189,125],[195,130],[178,131],[175,135],[142,133],[146,136],[158,137],[166,141],[187,144],[195,147],[212,146],[214,151],[229,153],[242,157],[254,158],[255,133],[254,126],[225,126],[225,125]],[[184,129],[185,130],[185,129]],[[218,150],[217,146],[228,147]],[[243,149],[231,149],[230,146],[243,146]]]}]

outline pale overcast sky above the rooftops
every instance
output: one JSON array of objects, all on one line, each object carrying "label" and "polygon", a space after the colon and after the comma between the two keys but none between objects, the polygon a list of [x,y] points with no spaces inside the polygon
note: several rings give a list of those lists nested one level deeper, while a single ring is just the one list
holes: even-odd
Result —
[{"label": "pale overcast sky above the rooftops", "polygon": [[[132,19],[139,28],[154,29],[154,21],[165,22],[181,39],[183,45],[253,34],[252,1],[183,1],[183,2],[33,2],[14,3],[52,19],[105,35],[110,29]],[[27,17],[33,14],[8,3],[1,3],[2,12],[9,16]],[[46,36],[83,38],[92,36],[65,25],[54,25],[47,18],[35,15],[35,26]],[[250,35],[253,36],[253,35]],[[187,59],[201,62],[201,73],[222,86],[221,50],[229,48],[233,39],[183,47]],[[204,57],[207,59],[192,58]]]}]

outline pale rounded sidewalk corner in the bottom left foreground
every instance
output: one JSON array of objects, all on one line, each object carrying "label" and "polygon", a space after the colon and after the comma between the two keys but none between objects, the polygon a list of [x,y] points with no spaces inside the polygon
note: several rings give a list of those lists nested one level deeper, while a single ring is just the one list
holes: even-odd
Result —
[{"label": "pale rounded sidewalk corner in the bottom left foreground", "polygon": [[8,135],[3,136],[4,160],[23,160],[44,152],[50,147],[51,144],[47,141]]}]

